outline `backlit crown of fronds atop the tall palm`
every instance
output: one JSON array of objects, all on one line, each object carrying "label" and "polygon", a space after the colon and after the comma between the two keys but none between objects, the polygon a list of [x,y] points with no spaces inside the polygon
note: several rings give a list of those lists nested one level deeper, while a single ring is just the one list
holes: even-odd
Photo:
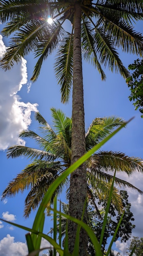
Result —
[{"label": "backlit crown of fronds atop the tall palm", "polygon": [[[82,57],[91,61],[105,79],[102,64],[110,70],[119,71],[124,77],[128,70],[119,59],[117,48],[123,51],[143,54],[143,37],[134,31],[132,21],[143,19],[141,0],[1,0],[0,20],[6,22],[2,31],[10,36],[11,44],[1,61],[4,69],[10,69],[15,62],[29,52],[38,58],[32,81],[39,76],[41,65],[57,47],[56,76],[61,85],[62,101],[69,99],[73,72],[73,36],[76,4],[81,7]],[[48,23],[51,17],[52,24]],[[72,29],[65,31],[66,20]]]}]

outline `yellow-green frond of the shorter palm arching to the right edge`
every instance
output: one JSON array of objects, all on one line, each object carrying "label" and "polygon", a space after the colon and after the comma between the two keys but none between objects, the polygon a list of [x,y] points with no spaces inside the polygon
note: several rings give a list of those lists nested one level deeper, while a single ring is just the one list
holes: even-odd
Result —
[{"label": "yellow-green frond of the shorter palm arching to the right edge", "polygon": [[[114,173],[115,170],[118,172],[123,171],[124,173],[127,173],[128,176],[132,175],[136,171],[143,173],[142,159],[137,157],[128,157],[124,153],[119,152],[100,151],[99,153],[94,154],[87,162],[87,177],[89,184],[92,187],[95,187],[96,182],[99,180],[105,183],[111,182],[113,180],[113,175],[110,173]],[[143,193],[140,189],[137,189],[137,187],[125,180],[119,179],[118,177],[115,177],[115,185],[135,189],[139,193]]]}]

